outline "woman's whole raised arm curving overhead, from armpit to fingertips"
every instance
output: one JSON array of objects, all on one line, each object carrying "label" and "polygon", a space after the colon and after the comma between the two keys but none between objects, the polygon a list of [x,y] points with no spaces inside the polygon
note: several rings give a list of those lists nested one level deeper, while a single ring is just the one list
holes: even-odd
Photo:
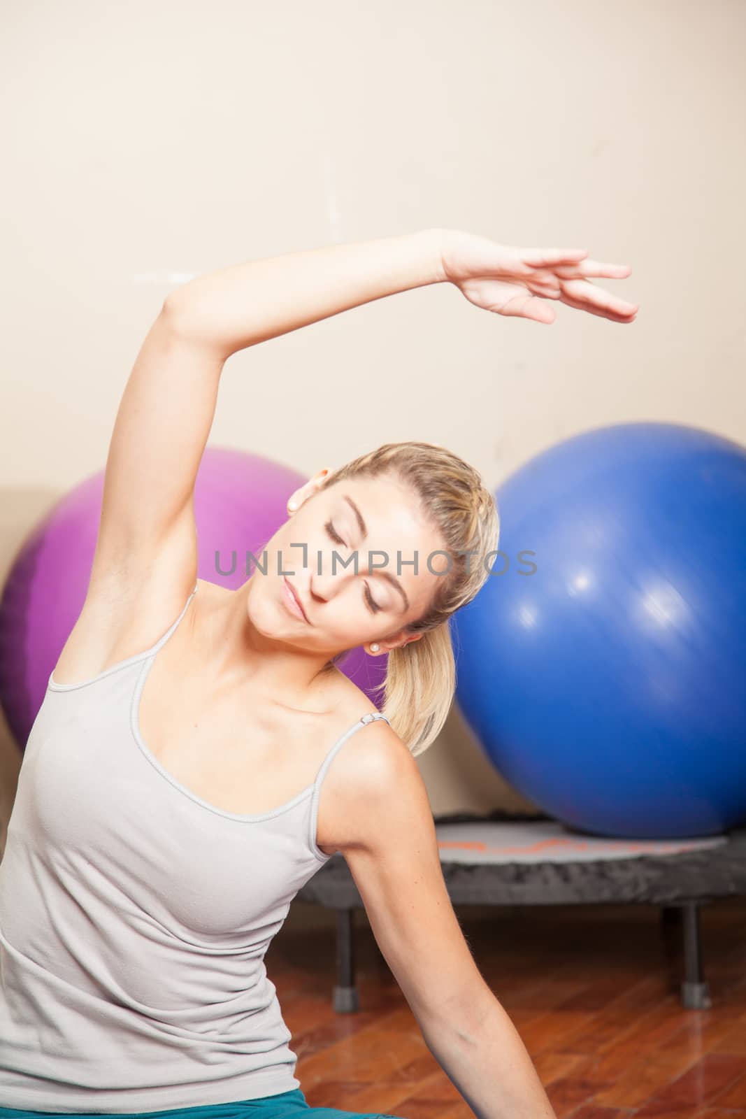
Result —
[{"label": "woman's whole raised arm curving overhead, from armpit to fingertips", "polygon": [[629,275],[630,269],[586,256],[582,248],[514,248],[428,228],[248,261],[173,291],[140,349],[116,415],[89,599],[132,603],[135,590],[148,584],[170,617],[193,585],[193,487],[232,354],[442,282],[499,314],[550,322],[554,311],[544,301],[559,299],[632,321],[635,304],[591,282]]}]

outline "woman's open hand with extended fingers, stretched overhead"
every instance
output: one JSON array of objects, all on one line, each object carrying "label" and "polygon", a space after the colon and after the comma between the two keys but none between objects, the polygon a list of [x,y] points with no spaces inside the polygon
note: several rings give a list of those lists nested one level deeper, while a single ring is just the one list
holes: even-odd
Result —
[{"label": "woman's open hand with extended fingers, stretched overhead", "polygon": [[441,231],[444,279],[475,307],[551,323],[557,316],[541,300],[558,299],[613,322],[634,322],[636,303],[596,288],[588,279],[623,280],[632,269],[585,260],[587,255],[586,248],[516,248],[457,229]]}]

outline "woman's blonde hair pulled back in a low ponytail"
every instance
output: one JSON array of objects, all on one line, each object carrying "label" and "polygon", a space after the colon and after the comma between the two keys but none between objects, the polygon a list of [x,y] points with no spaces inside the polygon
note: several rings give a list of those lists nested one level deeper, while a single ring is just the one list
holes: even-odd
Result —
[{"label": "woman's blonde hair pulled back in a low ponytail", "polygon": [[[391,478],[421,500],[426,519],[440,532],[451,567],[426,613],[406,630],[417,641],[388,653],[383,714],[414,756],[440,734],[456,687],[456,666],[448,619],[471,602],[490,575],[500,519],[481,474],[452,451],[435,443],[384,443],[329,476],[323,488],[348,478]],[[471,552],[471,555],[464,553]],[[441,564],[437,564],[437,570]],[[349,650],[338,653],[336,665]]]}]

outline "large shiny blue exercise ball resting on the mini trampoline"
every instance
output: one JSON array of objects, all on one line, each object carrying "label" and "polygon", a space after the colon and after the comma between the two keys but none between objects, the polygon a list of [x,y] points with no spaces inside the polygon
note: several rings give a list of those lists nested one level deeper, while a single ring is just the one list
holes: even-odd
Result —
[{"label": "large shiny blue exercise ball resting on the mini trampoline", "polygon": [[627,423],[497,490],[500,553],[452,618],[456,699],[499,772],[569,827],[746,820],[746,449]]}]

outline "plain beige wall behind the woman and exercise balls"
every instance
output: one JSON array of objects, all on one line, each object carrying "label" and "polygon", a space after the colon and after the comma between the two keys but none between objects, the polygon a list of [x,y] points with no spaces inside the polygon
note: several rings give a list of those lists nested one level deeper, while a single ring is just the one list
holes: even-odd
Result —
[{"label": "plain beige wall behind the woman and exercise balls", "polygon": [[[578,244],[632,266],[605,285],[641,310],[545,327],[447,285],[381,300],[232,358],[211,443],[311,473],[424,439],[497,485],[607,423],[744,441],[745,25],[740,0],[6,0],[0,577],[103,467],[180,278],[332,242]],[[456,709],[421,764],[436,812],[530,807]]]}]

